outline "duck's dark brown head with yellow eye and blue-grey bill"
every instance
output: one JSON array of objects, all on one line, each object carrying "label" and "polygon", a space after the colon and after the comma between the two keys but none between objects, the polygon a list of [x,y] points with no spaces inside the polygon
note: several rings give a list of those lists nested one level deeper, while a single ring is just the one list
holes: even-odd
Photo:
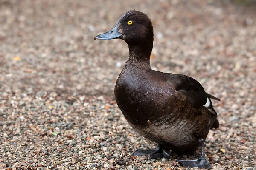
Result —
[{"label": "duck's dark brown head with yellow eye and blue-grey bill", "polygon": [[122,39],[130,45],[150,44],[153,47],[154,33],[151,20],[140,11],[128,11],[110,31],[97,35],[94,40]]}]

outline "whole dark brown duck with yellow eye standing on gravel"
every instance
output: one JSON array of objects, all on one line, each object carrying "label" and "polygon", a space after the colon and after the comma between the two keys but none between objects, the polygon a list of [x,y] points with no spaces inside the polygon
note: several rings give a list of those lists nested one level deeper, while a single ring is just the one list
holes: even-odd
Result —
[{"label": "whole dark brown duck with yellow eye standing on gravel", "polygon": [[220,99],[205,92],[192,77],[151,69],[154,30],[143,12],[126,12],[110,31],[94,37],[111,39],[125,40],[129,47],[129,58],[114,89],[116,103],[128,124],[158,145],[152,150],[137,149],[132,155],[172,159],[170,150],[187,153],[201,147],[199,159],[178,161],[184,167],[212,168],[204,142],[209,130],[219,127],[211,99]]}]

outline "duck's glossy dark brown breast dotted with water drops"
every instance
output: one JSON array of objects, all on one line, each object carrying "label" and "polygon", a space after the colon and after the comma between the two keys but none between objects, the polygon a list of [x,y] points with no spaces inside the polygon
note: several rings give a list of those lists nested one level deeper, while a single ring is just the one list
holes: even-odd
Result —
[{"label": "duck's glossy dark brown breast dotted with water drops", "polygon": [[119,75],[116,102],[129,123],[148,125],[149,119],[164,116],[172,107],[172,89],[150,74]]}]

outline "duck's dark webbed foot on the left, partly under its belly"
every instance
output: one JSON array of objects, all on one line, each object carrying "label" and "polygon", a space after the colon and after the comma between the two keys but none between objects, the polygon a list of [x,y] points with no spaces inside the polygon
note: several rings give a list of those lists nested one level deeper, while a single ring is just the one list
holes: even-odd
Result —
[{"label": "duck's dark webbed foot on the left, partly under its belly", "polygon": [[157,158],[168,158],[172,159],[172,156],[169,155],[168,151],[163,150],[163,147],[158,145],[158,148],[155,150],[144,150],[144,149],[137,149],[132,153],[133,156],[142,156],[148,155],[150,159],[157,159]]}]

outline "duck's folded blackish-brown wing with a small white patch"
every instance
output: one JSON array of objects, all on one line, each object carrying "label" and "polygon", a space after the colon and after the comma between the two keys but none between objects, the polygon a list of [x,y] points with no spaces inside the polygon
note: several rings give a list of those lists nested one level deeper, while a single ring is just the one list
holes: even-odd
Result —
[{"label": "duck's folded blackish-brown wing with a small white patch", "polygon": [[175,86],[177,92],[183,93],[189,99],[194,108],[205,107],[211,113],[216,114],[211,99],[218,101],[220,99],[206,93],[198,81],[182,74],[170,74],[169,81]]}]

